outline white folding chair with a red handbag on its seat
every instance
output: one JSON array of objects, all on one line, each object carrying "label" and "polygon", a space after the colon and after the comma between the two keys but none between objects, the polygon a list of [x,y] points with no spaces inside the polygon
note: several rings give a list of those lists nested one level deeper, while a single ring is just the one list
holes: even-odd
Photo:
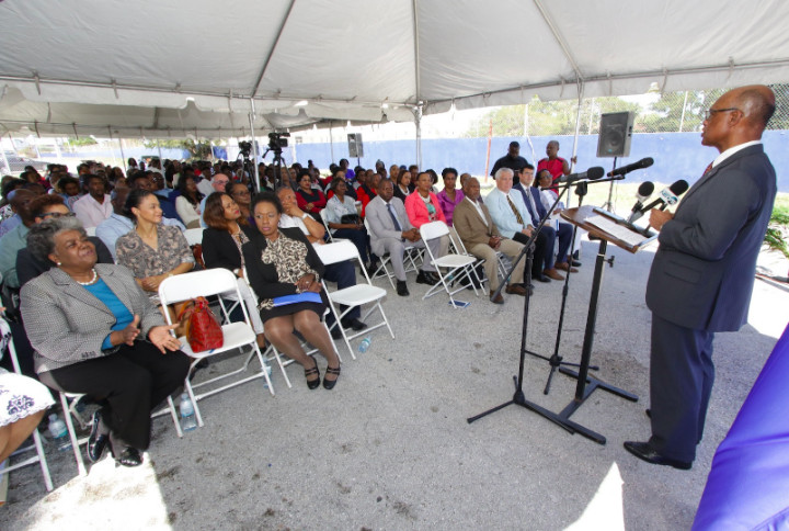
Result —
[{"label": "white folding chair with a red handbag on its seat", "polygon": [[[179,274],[176,276],[170,276],[168,279],[164,279],[164,281],[159,285],[159,298],[162,306],[168,306],[170,304],[179,303],[182,301],[188,301],[191,298],[199,296],[218,295],[226,292],[236,292],[238,300],[241,301],[241,294],[238,291],[236,275],[226,269],[208,269],[205,271],[193,271],[191,273]],[[227,319],[228,313],[221,297],[219,297],[219,305],[221,306],[225,318]],[[201,415],[197,402],[210,395],[215,395],[225,389],[229,389],[230,387],[235,387],[237,385],[241,385],[243,383],[260,377],[265,379],[266,383],[268,384],[268,392],[274,395],[274,387],[272,386],[271,379],[268,377],[266,364],[263,361],[263,354],[258,348],[256,336],[254,330],[252,329],[252,325],[250,324],[249,314],[247,313],[247,306],[243,304],[241,304],[240,306],[241,310],[243,312],[244,320],[239,323],[229,323],[221,326],[225,342],[220,348],[204,352],[193,352],[185,338],[181,338],[181,350],[183,350],[187,355],[193,359],[190,366],[190,373],[192,372],[194,366],[199,363],[199,361],[204,358],[216,355],[233,349],[241,350],[242,347],[248,344],[252,347],[252,351],[249,353],[249,355],[247,355],[244,363],[235,371],[209,379],[205,382],[201,382],[198,384],[195,384],[194,386],[192,385],[187,373],[187,376],[184,380],[184,387],[186,388],[186,393],[188,393],[190,398],[192,399],[192,404],[194,404],[197,426],[203,426],[203,417]],[[171,325],[172,323],[169,312],[165,312],[165,318],[168,325]],[[196,387],[202,387],[219,380],[224,380],[229,376],[245,372],[249,368],[250,362],[252,361],[252,358],[255,355],[258,357],[258,361],[261,364],[260,372],[255,372],[250,376],[237,380],[221,387],[204,392],[199,395],[194,394],[194,388]],[[173,415],[173,420],[175,421],[175,431],[178,431],[179,437],[182,437],[183,433],[181,431],[181,425],[178,422],[178,415],[175,414],[175,405],[172,402],[172,397],[168,397],[168,403],[170,405],[171,414]]]}]

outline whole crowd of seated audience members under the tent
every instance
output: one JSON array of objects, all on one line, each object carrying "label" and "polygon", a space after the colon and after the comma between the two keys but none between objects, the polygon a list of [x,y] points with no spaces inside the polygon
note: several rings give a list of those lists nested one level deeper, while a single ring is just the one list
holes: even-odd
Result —
[{"label": "whole crowd of seated audience members under the tent", "polygon": [[[534,204],[524,201],[528,195],[510,193],[506,176],[502,197],[516,200],[515,206],[494,194],[489,212],[479,182],[455,168],[441,172],[441,191],[435,171],[415,165],[387,168],[380,160],[375,169],[351,169],[342,159],[328,172],[311,161],[306,168],[261,162],[258,173],[259,183],[240,163],[129,159],[126,171],[84,162],[72,176],[50,165],[45,176],[25,169],[0,183],[0,274],[4,302],[13,306],[10,318],[21,330],[14,340],[28,352],[28,375],[55,391],[84,393],[100,405],[87,449],[91,461],[110,449],[122,465],[141,463],[150,444],[150,411],[183,383],[188,359],[171,335],[176,325],[164,326],[162,313],[169,309],[157,306],[164,279],[199,267],[184,237],[187,228],[204,227],[206,268],[228,269],[239,279],[258,343],[267,340],[301,364],[309,388],[321,382],[332,388],[340,361],[331,337],[341,335],[339,327],[328,335],[320,324],[328,306],[321,280],[344,289],[357,274],[350,261],[320,262],[313,247],[329,241],[328,233],[353,241],[370,274],[387,256],[397,294],[408,296],[407,252],[425,245],[434,256],[448,252],[448,237],[425,242],[419,230],[444,222],[468,252],[487,260],[492,302],[501,304],[501,295],[493,300],[495,252],[517,255],[524,238],[516,233],[528,235],[533,222]],[[535,187],[542,192],[535,189],[533,199],[547,208],[551,181],[540,177]],[[557,267],[572,272],[571,252],[561,244]],[[548,261],[541,263],[535,275],[548,273]],[[416,267],[416,283],[438,282],[428,261]],[[523,284],[522,264],[506,293],[524,295],[530,287]],[[285,309],[274,305],[279,296],[310,293],[317,298],[306,296]],[[325,318],[331,328],[334,316]],[[339,326],[361,330],[367,325],[356,307]],[[322,376],[296,334],[325,358]],[[50,400],[42,404],[48,407]],[[28,422],[39,418],[32,415]],[[26,425],[24,430],[30,432]]]}]

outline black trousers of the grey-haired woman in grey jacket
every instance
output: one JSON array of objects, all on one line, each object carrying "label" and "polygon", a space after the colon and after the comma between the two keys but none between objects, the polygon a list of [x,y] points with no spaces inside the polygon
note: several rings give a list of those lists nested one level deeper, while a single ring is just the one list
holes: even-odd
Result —
[{"label": "black trousers of the grey-haired woman in grey jacket", "polygon": [[38,380],[103,404],[102,419],[113,445],[146,450],[151,411],[183,385],[188,366],[190,358],[180,350],[162,354],[148,341],[135,341],[114,354],[43,372]]}]

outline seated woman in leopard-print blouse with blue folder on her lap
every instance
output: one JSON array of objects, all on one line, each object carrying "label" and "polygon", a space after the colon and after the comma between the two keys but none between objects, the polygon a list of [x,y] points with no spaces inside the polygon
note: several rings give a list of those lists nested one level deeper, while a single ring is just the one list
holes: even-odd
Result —
[{"label": "seated woman in leopard-print blouse with blue folder on her lap", "polygon": [[305,368],[307,386],[315,389],[320,385],[318,363],[305,353],[294,335],[298,331],[327,359],[323,387],[331,389],[340,377],[340,359],[320,320],[328,304],[320,283],[323,263],[301,229],[279,228],[283,206],[276,195],[260,194],[252,214],[258,230],[250,231],[242,250],[266,338]]}]

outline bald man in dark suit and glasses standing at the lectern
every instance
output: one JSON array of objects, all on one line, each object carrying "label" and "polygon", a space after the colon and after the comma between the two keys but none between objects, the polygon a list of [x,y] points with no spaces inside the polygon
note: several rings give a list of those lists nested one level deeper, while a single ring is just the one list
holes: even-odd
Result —
[{"label": "bald man in dark suit and glasses standing at the lectern", "polygon": [[675,214],[650,215],[661,231],[647,284],[652,438],[625,443],[649,463],[690,468],[714,380],[713,335],[747,320],[776,195],[775,170],[761,142],[774,111],[775,95],[764,86],[723,94],[707,111],[701,134],[701,144],[720,155]]}]

